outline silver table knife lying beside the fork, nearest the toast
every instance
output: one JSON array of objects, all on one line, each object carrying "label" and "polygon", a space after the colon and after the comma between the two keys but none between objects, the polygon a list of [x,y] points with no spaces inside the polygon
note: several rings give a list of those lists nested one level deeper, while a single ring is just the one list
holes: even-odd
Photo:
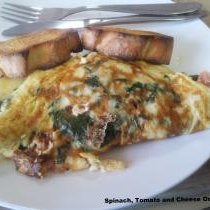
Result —
[{"label": "silver table knife lying beside the fork, nearest the toast", "polygon": [[83,19],[83,20],[59,20],[59,21],[36,21],[33,23],[22,23],[2,31],[4,36],[18,36],[34,31],[40,31],[46,28],[56,29],[76,29],[80,30],[86,26],[109,26],[119,24],[134,24],[156,21],[182,21],[193,20],[202,17],[202,12],[196,12],[188,15],[170,15],[170,16],[126,16],[115,19]]}]

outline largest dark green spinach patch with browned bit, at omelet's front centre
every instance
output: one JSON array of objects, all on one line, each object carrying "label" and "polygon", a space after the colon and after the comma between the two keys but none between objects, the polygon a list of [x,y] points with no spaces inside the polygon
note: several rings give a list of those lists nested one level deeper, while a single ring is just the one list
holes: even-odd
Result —
[{"label": "largest dark green spinach patch with browned bit, at omelet's front centre", "polygon": [[69,137],[71,144],[90,151],[114,141],[122,124],[119,117],[102,116],[94,120],[89,113],[75,116],[66,109],[52,111],[50,116],[55,130]]}]

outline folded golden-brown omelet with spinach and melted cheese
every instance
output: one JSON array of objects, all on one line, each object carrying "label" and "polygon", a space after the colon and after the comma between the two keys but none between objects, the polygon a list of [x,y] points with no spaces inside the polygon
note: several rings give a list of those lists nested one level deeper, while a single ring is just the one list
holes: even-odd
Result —
[{"label": "folded golden-brown omelet with spinach and melted cheese", "polygon": [[1,101],[0,153],[29,176],[96,167],[114,146],[210,127],[210,91],[183,73],[96,52],[36,71]]}]

